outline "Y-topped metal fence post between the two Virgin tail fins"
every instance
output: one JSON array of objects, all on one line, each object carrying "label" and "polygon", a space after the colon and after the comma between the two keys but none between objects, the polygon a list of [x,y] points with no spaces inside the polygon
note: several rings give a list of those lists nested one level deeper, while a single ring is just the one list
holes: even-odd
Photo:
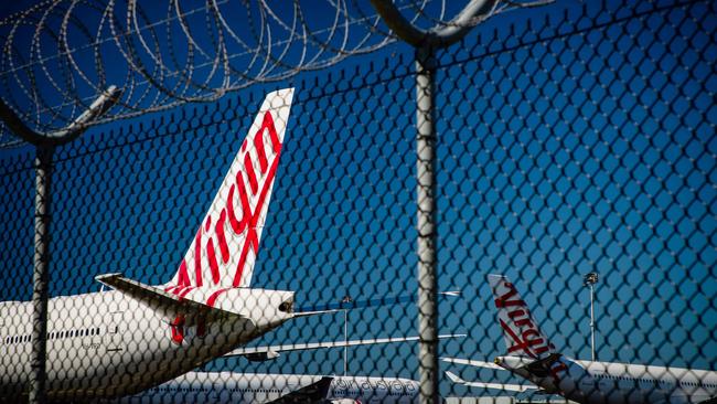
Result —
[{"label": "Y-topped metal fence post between the two Virgin tail fins", "polygon": [[[550,2],[512,3],[534,7]],[[436,51],[460,41],[497,13],[501,0],[471,0],[450,22],[430,30],[414,26],[392,0],[371,0],[390,30],[416,50],[416,182],[418,233],[418,365],[420,403],[438,403],[438,265],[436,253]]]}]

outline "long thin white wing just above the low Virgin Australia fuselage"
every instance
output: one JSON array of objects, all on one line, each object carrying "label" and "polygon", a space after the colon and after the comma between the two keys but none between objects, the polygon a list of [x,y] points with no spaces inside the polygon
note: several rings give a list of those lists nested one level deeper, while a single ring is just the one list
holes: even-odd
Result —
[{"label": "long thin white wing just above the low Virgin Australia fuselage", "polygon": [[[446,334],[438,336],[439,339],[461,338],[465,334]],[[357,345],[374,345],[392,342],[406,342],[418,341],[418,337],[395,337],[395,338],[376,338],[370,340],[352,340],[352,341],[327,341],[327,342],[301,342],[285,345],[272,347],[242,347],[234,351],[227,352],[224,357],[245,357],[250,361],[265,361],[279,357],[281,352],[289,351],[307,351],[312,349],[324,348],[342,348],[342,347],[357,347]],[[501,368],[502,369],[502,368]]]}]

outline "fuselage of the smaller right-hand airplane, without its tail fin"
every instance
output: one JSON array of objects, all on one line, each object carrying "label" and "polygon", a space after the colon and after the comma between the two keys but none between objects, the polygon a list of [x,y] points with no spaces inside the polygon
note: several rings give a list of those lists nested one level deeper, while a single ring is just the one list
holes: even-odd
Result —
[{"label": "fuselage of the smaller right-hand airplane, without its tail fin", "polygon": [[578,403],[700,403],[717,396],[717,372],[714,371],[560,357],[548,376],[538,376],[524,368],[533,359],[499,359],[501,366]]}]

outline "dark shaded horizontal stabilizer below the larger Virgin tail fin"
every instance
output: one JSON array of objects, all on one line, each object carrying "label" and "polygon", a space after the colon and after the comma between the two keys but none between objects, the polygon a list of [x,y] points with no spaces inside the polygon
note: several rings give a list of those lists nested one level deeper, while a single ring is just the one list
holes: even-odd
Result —
[{"label": "dark shaded horizontal stabilizer below the larger Virgin tail fin", "polygon": [[95,279],[169,317],[183,316],[186,326],[193,326],[199,319],[202,319],[204,322],[212,322],[223,318],[238,317],[229,311],[210,307],[199,301],[183,299],[153,286],[128,279],[122,274],[98,275]]}]

